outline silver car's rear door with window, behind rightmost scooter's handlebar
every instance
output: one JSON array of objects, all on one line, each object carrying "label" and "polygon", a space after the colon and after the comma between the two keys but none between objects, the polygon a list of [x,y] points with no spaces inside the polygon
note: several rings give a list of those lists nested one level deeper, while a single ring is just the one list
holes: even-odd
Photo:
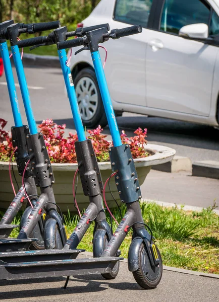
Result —
[{"label": "silver car's rear door with window, behind rightmost scooter's handlebar", "polygon": [[111,28],[141,25],[141,34],[109,40],[106,79],[111,97],[119,103],[146,106],[145,55],[147,23],[152,0],[117,0]]}]

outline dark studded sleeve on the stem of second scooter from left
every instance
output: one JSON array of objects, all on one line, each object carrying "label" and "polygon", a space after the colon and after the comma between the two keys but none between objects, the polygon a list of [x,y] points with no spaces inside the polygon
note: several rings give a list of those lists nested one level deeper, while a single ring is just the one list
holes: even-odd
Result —
[{"label": "dark studded sleeve on the stem of second scooter from left", "polygon": [[27,145],[31,159],[28,167],[33,172],[36,186],[45,188],[52,185],[54,176],[42,133],[28,134]]}]

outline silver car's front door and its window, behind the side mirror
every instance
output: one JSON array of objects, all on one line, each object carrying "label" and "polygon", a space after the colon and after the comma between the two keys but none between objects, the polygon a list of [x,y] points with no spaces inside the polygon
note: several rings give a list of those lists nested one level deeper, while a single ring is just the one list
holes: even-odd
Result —
[{"label": "silver car's front door and its window, behind the side mirror", "polygon": [[188,24],[209,25],[211,8],[203,0],[165,0],[158,30],[148,32],[147,106],[208,116],[218,48],[178,35]]}]

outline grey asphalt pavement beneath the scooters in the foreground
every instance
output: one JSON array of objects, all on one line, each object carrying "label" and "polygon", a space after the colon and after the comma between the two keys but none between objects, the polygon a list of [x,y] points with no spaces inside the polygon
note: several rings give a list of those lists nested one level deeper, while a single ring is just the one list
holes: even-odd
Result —
[{"label": "grey asphalt pavement beneath the scooters in the foreground", "polygon": [[[81,256],[84,257],[84,256]],[[71,277],[67,289],[65,278],[1,281],[0,300],[11,302],[216,302],[219,279],[163,270],[156,289],[143,290],[128,271],[127,263],[120,263],[115,280],[100,275]],[[39,282],[39,283],[38,283]]]}]

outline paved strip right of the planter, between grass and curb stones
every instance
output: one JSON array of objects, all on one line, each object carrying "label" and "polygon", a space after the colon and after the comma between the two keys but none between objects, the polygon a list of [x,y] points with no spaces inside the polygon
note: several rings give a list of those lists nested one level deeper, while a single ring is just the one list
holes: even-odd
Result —
[{"label": "paved strip right of the planter, between grass and curb stones", "polygon": [[[166,173],[151,170],[141,186],[144,199],[208,207],[214,200],[219,206],[217,179],[195,177],[186,173]],[[218,298],[219,301],[219,298]]]}]

